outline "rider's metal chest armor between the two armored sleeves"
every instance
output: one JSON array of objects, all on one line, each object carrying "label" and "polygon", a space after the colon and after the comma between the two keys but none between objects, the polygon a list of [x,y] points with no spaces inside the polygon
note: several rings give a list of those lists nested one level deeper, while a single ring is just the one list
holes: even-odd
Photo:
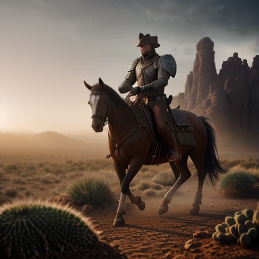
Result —
[{"label": "rider's metal chest armor between the two armored sleeves", "polygon": [[135,74],[140,87],[157,79],[158,59],[159,55],[155,55],[150,59],[144,59],[142,57],[139,59],[139,62],[135,67]]}]

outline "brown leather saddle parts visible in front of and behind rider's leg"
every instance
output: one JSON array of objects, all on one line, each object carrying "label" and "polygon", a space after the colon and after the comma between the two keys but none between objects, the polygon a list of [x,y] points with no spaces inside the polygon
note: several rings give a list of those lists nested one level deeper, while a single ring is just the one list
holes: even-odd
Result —
[{"label": "brown leather saddle parts visible in front of and behind rider's leg", "polygon": [[[166,98],[168,108],[171,100],[171,96],[169,96],[168,99]],[[133,111],[138,121],[138,126],[140,128],[147,128],[152,139],[153,145],[146,164],[158,164],[163,145],[159,140],[156,131],[153,114],[148,108],[146,108],[146,98],[141,96],[128,95],[125,98],[125,102]],[[192,135],[193,127],[182,110],[180,110],[180,105],[177,108],[172,109],[170,112],[171,114],[167,109],[167,124],[171,128],[172,136],[174,136],[174,143],[176,146],[196,146],[196,142]]]}]

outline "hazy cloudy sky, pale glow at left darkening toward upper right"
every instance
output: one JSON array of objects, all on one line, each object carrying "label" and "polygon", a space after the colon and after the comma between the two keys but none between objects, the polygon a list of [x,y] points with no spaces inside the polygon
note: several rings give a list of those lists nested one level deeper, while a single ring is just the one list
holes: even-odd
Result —
[{"label": "hazy cloudy sky, pale glow at left darkening toward upper right", "polygon": [[140,56],[140,32],[157,35],[157,53],[176,59],[167,95],[184,92],[205,36],[218,73],[234,52],[251,66],[258,10],[257,0],[0,0],[0,132],[93,132],[83,80],[101,77],[117,91]]}]

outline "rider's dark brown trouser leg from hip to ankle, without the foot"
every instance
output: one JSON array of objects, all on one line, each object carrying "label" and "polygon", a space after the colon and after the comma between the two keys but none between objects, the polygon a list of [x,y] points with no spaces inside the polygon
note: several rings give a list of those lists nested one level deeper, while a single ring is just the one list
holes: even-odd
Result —
[{"label": "rider's dark brown trouser leg from hip to ankle, without the foot", "polygon": [[167,147],[173,148],[175,143],[171,129],[167,124],[166,100],[150,101],[147,104],[147,108],[151,110],[154,115],[156,130],[163,144]]}]

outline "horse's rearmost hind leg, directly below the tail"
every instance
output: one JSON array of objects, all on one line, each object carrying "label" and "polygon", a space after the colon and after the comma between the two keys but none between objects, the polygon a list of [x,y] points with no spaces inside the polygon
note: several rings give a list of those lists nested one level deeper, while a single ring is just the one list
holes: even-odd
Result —
[{"label": "horse's rearmost hind leg, directly below the tail", "polygon": [[207,175],[205,166],[204,166],[204,156],[191,156],[191,159],[197,169],[198,174],[198,189],[194,198],[194,202],[190,208],[190,214],[196,215],[200,210],[200,204],[202,199],[202,188],[204,179]]}]

